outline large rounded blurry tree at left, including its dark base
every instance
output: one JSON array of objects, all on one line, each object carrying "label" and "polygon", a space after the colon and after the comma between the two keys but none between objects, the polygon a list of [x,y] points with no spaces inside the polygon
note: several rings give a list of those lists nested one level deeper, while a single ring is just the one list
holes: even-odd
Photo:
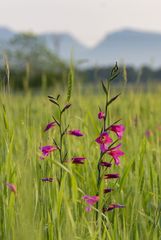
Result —
[{"label": "large rounded blurry tree at left, including its dark base", "polygon": [[15,35],[6,49],[15,86],[40,86],[42,76],[47,85],[63,81],[67,65],[32,33]]}]

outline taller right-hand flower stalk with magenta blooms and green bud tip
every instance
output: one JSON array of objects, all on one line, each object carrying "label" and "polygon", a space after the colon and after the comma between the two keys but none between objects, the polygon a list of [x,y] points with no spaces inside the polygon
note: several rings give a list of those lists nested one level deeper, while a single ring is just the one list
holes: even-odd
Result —
[{"label": "taller right-hand flower stalk with magenta blooms and green bud tip", "polygon": [[[97,163],[97,193],[96,196],[101,195],[100,186],[101,182],[106,179],[115,179],[117,180],[120,175],[119,173],[107,173],[108,169],[111,168],[112,162],[108,162],[103,160],[104,157],[112,157],[115,162],[115,165],[120,164],[120,157],[124,155],[124,152],[120,149],[121,144],[115,146],[116,142],[119,141],[123,137],[123,133],[125,131],[125,127],[122,124],[117,124],[118,121],[110,125],[110,116],[109,116],[109,105],[113,103],[120,94],[110,99],[110,84],[111,81],[118,75],[118,67],[117,65],[112,69],[111,76],[107,80],[107,84],[105,85],[102,82],[103,91],[105,93],[105,106],[104,111],[99,107],[98,118],[103,120],[103,126],[100,131],[99,137],[96,138],[96,143],[100,145],[100,156]],[[110,136],[110,132],[113,131],[117,135],[117,140],[113,141]],[[106,187],[103,190],[104,194],[112,192],[114,189]],[[123,205],[120,204],[110,204],[108,207],[105,207],[106,202],[103,202],[102,206],[99,206],[99,200],[96,202],[96,208],[99,210],[102,207],[103,212],[113,210],[115,208],[122,208]],[[96,221],[98,221],[99,211],[96,211]],[[101,216],[101,215],[100,215]]]}]

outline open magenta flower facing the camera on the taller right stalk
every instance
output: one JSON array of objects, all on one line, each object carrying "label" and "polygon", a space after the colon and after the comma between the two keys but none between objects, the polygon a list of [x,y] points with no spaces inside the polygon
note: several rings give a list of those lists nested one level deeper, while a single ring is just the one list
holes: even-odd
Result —
[{"label": "open magenta flower facing the camera on the taller right stalk", "polygon": [[107,132],[101,133],[101,135],[95,141],[100,144],[101,152],[106,152],[108,145],[112,143],[112,139],[109,137]]}]

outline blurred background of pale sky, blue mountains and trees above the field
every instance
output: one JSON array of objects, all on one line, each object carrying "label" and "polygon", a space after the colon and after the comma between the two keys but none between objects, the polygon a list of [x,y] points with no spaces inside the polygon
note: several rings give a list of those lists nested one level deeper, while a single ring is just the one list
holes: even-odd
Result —
[{"label": "blurred background of pale sky, blue mountains and trees above the field", "polygon": [[160,0],[2,0],[1,85],[65,83],[71,61],[82,83],[115,62],[128,83],[161,81],[160,9]]}]

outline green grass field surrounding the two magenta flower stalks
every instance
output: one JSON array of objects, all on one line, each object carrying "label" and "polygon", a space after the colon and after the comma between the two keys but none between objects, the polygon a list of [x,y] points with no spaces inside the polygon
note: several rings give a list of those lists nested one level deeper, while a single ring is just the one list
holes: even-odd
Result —
[{"label": "green grass field surrounding the two magenta flower stalks", "polygon": [[[110,170],[119,173],[120,179],[108,181],[115,190],[106,198],[125,208],[105,216],[100,212],[97,224],[95,205],[86,212],[82,196],[96,194],[99,146],[95,139],[101,129],[97,114],[103,93],[101,87],[73,93],[63,124],[69,122],[71,129],[80,129],[85,136],[67,135],[64,148],[69,158],[85,156],[87,160],[84,165],[64,164],[60,187],[56,180],[41,181],[60,172],[58,152],[39,159],[39,147],[58,138],[57,127],[43,131],[52,115],[58,115],[47,95],[58,93],[54,89],[26,95],[1,92],[0,239],[161,239],[161,87],[124,90],[109,107],[110,121],[121,118],[126,131],[122,140],[125,156],[120,166]],[[16,194],[6,182],[16,185]]]}]

